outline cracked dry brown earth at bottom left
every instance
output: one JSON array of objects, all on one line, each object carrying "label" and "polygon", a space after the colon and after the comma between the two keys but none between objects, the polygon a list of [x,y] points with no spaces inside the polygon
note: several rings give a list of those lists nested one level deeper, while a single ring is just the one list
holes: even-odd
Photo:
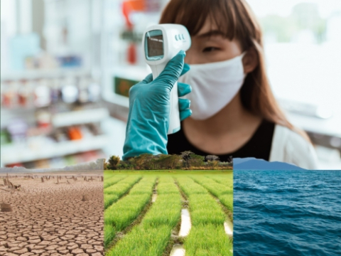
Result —
[{"label": "cracked dry brown earth at bottom left", "polygon": [[0,212],[0,255],[103,255],[103,181],[93,177],[62,176],[57,184],[52,177],[9,176],[21,190],[0,189],[0,203],[12,208]]}]

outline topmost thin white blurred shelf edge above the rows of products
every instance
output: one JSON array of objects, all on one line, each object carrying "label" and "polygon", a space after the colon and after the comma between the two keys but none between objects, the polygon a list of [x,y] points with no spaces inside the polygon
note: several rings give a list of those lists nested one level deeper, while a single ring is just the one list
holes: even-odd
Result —
[{"label": "topmost thin white blurred shelf edge above the rows of products", "polygon": [[90,70],[84,68],[58,68],[48,70],[22,70],[4,71],[1,70],[1,80],[22,80],[22,79],[41,79],[41,78],[60,78],[67,76],[89,75]]}]

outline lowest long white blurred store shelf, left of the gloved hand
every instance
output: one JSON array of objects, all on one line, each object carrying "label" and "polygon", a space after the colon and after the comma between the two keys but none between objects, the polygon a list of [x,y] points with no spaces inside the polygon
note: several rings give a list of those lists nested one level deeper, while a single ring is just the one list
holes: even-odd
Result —
[{"label": "lowest long white blurred store shelf, left of the gloved hand", "polygon": [[29,147],[28,144],[1,145],[1,164],[16,164],[102,149],[107,142],[108,136],[104,134],[92,138],[40,145],[34,148]]}]

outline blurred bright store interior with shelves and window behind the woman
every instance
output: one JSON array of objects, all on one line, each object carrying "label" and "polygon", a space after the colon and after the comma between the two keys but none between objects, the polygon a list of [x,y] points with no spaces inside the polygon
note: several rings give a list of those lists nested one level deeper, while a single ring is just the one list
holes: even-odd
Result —
[{"label": "blurred bright store interior with shelves and window behind the woman", "polygon": [[[276,98],[319,169],[341,169],[340,0],[247,1]],[[122,156],[129,87],[150,73],[142,33],[167,2],[1,1],[1,166]]]}]

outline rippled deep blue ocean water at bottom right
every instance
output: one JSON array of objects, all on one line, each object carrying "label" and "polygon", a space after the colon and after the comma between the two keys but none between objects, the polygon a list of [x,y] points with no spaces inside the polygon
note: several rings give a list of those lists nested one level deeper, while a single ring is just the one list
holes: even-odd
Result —
[{"label": "rippled deep blue ocean water at bottom right", "polygon": [[234,170],[234,255],[341,255],[341,171]]}]

